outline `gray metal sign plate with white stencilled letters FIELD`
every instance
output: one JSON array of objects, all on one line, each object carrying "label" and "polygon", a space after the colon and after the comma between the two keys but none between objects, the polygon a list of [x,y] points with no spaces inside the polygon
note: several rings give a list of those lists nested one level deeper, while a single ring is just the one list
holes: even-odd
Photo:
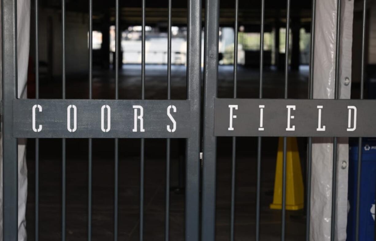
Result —
[{"label": "gray metal sign plate with white stencilled letters FIELD", "polygon": [[216,99],[215,136],[376,136],[376,100]]}]

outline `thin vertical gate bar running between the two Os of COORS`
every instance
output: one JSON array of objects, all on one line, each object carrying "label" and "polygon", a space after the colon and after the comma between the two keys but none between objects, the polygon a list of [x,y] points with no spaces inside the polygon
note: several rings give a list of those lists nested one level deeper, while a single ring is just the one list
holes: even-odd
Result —
[{"label": "thin vertical gate bar running between the two Os of COORS", "polygon": [[[89,99],[92,99],[92,50],[93,50],[93,27],[92,27],[92,0],[89,0]],[[88,160],[88,241],[91,241],[91,198],[92,198],[92,139],[89,138]]]}]

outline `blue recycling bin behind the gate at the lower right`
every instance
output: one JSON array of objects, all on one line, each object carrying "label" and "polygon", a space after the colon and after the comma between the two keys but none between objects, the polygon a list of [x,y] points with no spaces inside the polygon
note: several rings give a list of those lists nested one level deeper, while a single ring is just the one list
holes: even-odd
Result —
[{"label": "blue recycling bin behind the gate at the lower right", "polygon": [[[349,214],[347,240],[355,240],[356,182],[358,170],[358,138],[349,142]],[[360,191],[359,240],[374,240],[376,192],[376,138],[363,138]]]}]

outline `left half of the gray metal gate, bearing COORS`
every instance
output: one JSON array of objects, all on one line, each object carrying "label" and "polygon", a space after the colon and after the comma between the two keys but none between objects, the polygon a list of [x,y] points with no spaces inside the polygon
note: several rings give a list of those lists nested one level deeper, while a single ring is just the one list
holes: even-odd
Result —
[{"label": "left half of the gray metal gate, bearing COORS", "polygon": [[[88,138],[88,240],[91,240],[92,138],[114,138],[115,196],[114,240],[118,236],[118,138],[141,138],[139,236],[143,240],[144,138],[168,138],[166,189],[170,186],[170,138],[186,138],[185,238],[199,239],[200,177],[200,54],[201,2],[188,4],[187,100],[171,100],[171,0],[168,11],[168,96],[145,100],[145,0],[142,0],[142,92],[140,100],[118,99],[118,68],[115,68],[115,100],[92,100],[92,0],[89,1],[89,100],[65,99],[65,0],[62,0],[62,99],[39,99],[39,67],[36,54],[36,99],[17,96],[17,1],[2,0],[3,23],[3,154],[4,240],[18,240],[17,138],[36,138],[35,240],[38,240],[39,140],[62,138],[62,240],[65,240],[66,175],[65,138]],[[36,53],[38,53],[38,0],[35,0]],[[119,36],[119,0],[116,0],[116,36]],[[115,66],[119,66],[116,41]],[[169,191],[166,191],[165,232],[169,228]],[[168,240],[168,235],[166,240]]]}]

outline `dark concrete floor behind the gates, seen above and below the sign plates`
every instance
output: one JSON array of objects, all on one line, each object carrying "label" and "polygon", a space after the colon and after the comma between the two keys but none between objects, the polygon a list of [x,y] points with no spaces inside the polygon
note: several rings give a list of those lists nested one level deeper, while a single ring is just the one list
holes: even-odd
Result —
[{"label": "dark concrete floor behind the gates, seen above and below the sign plates", "polygon": [[[165,99],[166,66],[147,65],[146,98]],[[172,68],[172,98],[185,99],[186,69]],[[126,65],[120,71],[120,98],[139,99],[140,67]],[[258,97],[258,70],[239,68],[239,97]],[[306,98],[308,71],[303,68],[291,73],[291,98]],[[232,67],[219,69],[218,96],[231,97]],[[112,71],[95,71],[95,99],[114,97]],[[267,70],[264,97],[283,97],[284,74]],[[87,98],[85,74],[67,77],[67,98]],[[41,98],[60,98],[61,82],[44,80]],[[299,138],[299,149],[305,176],[305,138]],[[119,161],[119,240],[139,239],[139,140],[120,139]],[[171,186],[178,185],[179,141],[173,140],[171,150]],[[33,140],[27,155],[29,193],[27,230],[34,240],[35,161]],[[235,239],[254,240],[256,199],[256,138],[238,138],[237,185],[235,203]],[[216,240],[229,240],[231,194],[231,138],[218,138]],[[114,141],[93,141],[92,240],[113,239]],[[144,240],[164,240],[165,212],[165,140],[146,140]],[[281,215],[269,209],[273,199],[277,138],[263,138],[261,186],[261,240],[280,240]],[[61,140],[41,139],[39,176],[39,239],[59,240],[61,237]],[[67,139],[67,240],[86,240],[88,153],[86,139]],[[170,192],[170,240],[184,240],[184,194]],[[304,211],[287,212],[286,240],[305,237]]]}]

